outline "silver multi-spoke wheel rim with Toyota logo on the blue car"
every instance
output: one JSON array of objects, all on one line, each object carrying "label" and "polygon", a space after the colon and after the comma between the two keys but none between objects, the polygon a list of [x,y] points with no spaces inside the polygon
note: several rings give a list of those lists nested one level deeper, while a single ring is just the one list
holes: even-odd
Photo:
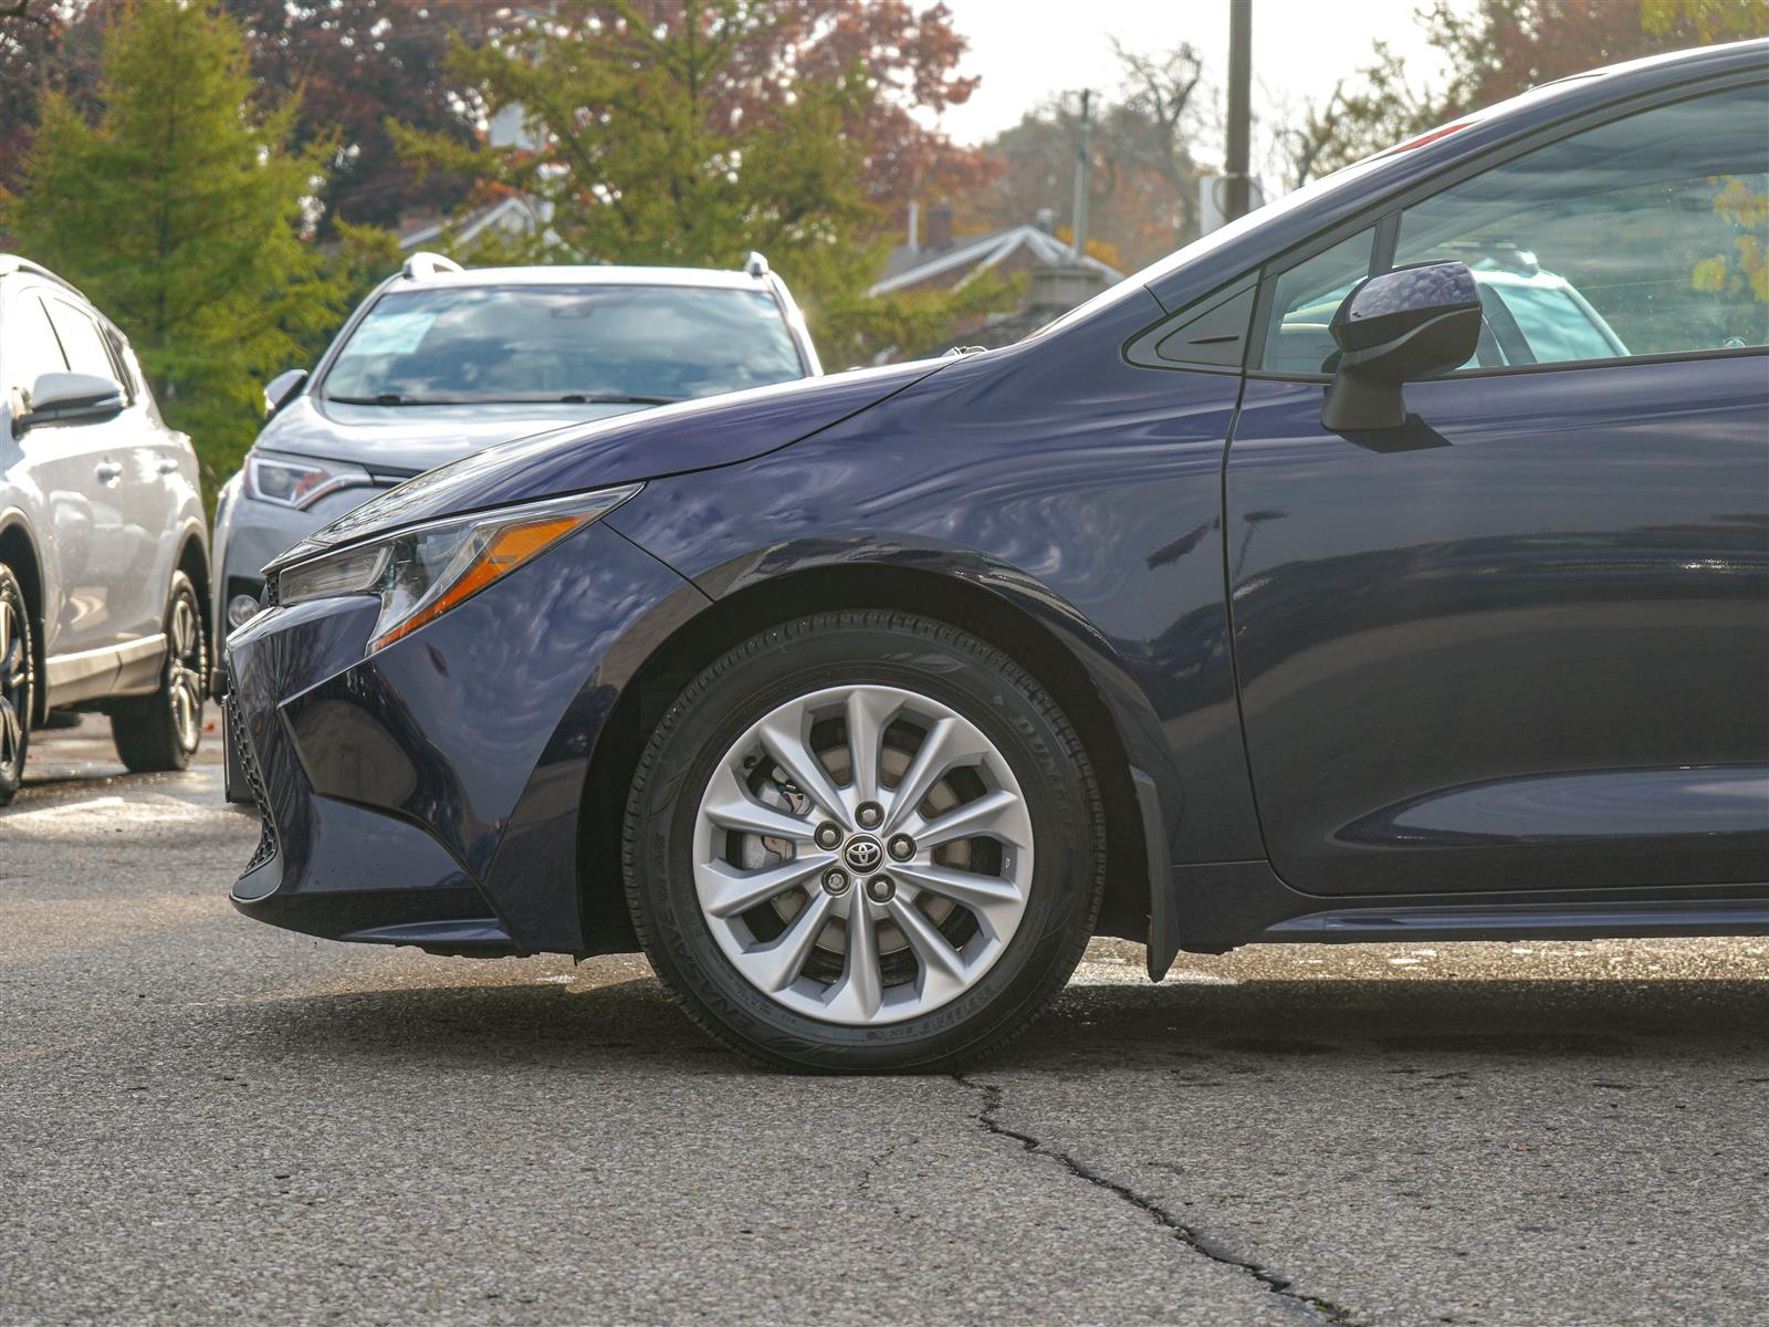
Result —
[{"label": "silver multi-spoke wheel rim with Toyota logo on the blue car", "polygon": [[1026,915],[1031,849],[1019,780],[975,724],[899,687],[831,687],[764,715],[720,759],[693,883],[759,991],[883,1024],[950,1003],[996,964]]}]

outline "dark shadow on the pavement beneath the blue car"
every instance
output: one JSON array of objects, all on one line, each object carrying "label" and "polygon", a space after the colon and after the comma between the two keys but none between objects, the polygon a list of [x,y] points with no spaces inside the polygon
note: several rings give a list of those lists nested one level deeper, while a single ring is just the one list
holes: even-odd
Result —
[{"label": "dark shadow on the pavement beneath the blue car", "polygon": [[[234,1007],[239,1010],[241,1007]],[[435,986],[253,1001],[276,1055],[386,1062],[520,1058],[632,1069],[747,1067],[649,977],[577,986]],[[1245,980],[1070,986],[989,1069],[1086,1072],[1219,1056],[1474,1055],[1769,1062],[1758,980]],[[690,1056],[685,1060],[685,1056]]]}]

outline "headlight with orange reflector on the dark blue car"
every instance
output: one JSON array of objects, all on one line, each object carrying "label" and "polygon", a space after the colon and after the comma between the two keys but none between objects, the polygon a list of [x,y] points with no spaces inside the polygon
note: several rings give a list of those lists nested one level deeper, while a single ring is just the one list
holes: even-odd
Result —
[{"label": "headlight with orange reflector on the dark blue car", "polygon": [[632,483],[449,517],[352,543],[276,571],[276,602],[287,607],[343,594],[379,596],[380,616],[368,642],[368,653],[375,653],[609,515],[640,488]]}]

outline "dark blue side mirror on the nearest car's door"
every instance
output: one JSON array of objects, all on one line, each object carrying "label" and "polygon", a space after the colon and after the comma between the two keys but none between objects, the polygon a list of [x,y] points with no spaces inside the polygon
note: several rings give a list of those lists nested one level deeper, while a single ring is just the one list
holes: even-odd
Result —
[{"label": "dark blue side mirror on the nearest car's door", "polygon": [[1403,382],[1447,373],[1481,336],[1481,288],[1465,262],[1366,276],[1327,324],[1339,347],[1321,426],[1334,433],[1399,428]]}]

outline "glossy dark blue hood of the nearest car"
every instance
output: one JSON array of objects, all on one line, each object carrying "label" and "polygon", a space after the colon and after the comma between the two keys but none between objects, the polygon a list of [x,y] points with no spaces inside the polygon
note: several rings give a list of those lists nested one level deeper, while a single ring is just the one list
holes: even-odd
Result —
[{"label": "glossy dark blue hood of the nearest car", "polygon": [[486,448],[371,497],[272,566],[379,529],[750,460],[860,414],[950,363],[922,359],[801,379]]}]

